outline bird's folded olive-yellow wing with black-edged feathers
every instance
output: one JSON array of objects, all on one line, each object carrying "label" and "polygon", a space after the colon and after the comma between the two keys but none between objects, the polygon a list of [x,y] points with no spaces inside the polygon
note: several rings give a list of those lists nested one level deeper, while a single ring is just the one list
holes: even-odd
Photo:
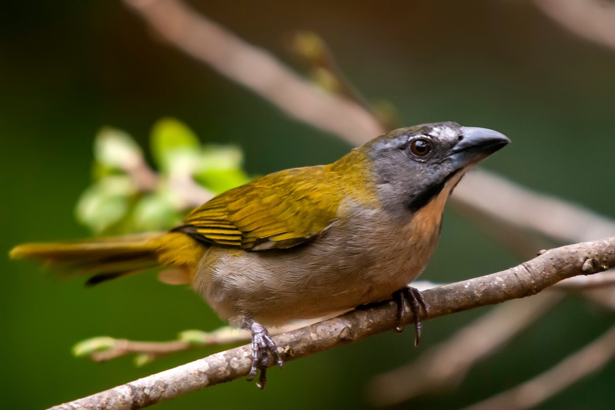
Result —
[{"label": "bird's folded olive-yellow wing with black-edged feathers", "polygon": [[280,171],[216,196],[178,230],[195,239],[243,249],[290,248],[336,219],[341,194],[325,167]]}]

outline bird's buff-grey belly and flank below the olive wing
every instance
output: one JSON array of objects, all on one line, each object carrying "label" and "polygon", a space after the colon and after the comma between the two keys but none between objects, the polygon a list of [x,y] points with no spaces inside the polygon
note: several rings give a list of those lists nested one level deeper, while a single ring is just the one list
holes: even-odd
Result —
[{"label": "bird's buff-grey belly and flank below the olive wing", "polygon": [[381,301],[416,278],[435,248],[438,226],[423,235],[408,228],[381,226],[368,237],[352,226],[335,226],[314,242],[285,250],[212,246],[194,288],[233,324],[250,317],[283,325]]}]

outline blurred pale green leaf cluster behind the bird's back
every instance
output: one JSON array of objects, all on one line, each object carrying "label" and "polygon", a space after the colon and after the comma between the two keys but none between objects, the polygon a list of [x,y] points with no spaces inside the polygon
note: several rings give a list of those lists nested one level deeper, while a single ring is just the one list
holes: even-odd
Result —
[{"label": "blurred pale green leaf cluster behind the bird's back", "polygon": [[177,181],[192,179],[218,193],[249,181],[237,146],[202,144],[180,120],[156,122],[145,152],[128,133],[105,127],[94,141],[93,182],[77,202],[76,216],[97,235],[162,231],[189,211]]}]

